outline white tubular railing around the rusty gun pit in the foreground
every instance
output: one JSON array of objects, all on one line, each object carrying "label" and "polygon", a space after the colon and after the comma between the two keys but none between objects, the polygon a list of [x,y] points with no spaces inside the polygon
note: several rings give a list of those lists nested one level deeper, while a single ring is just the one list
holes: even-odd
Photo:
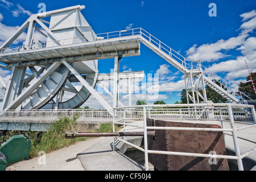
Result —
[{"label": "white tubular railing around the rusty gun pit in the foreground", "polygon": [[[190,104],[190,105],[142,105],[142,106],[133,106],[133,108],[138,108],[138,107],[142,107],[143,108],[143,126],[138,126],[138,125],[131,125],[130,123],[126,123],[126,115],[123,115],[123,118],[120,119],[119,117],[116,118],[115,115],[119,112],[119,111],[123,111],[123,113],[125,113],[126,110],[131,109],[132,107],[116,107],[114,108],[114,118],[113,118],[113,131],[114,131],[114,125],[123,125],[124,126],[124,130],[126,126],[131,126],[134,127],[135,129],[143,129],[144,131],[144,148],[139,147],[139,146],[135,146],[134,144],[127,142],[126,140],[122,139],[122,138],[118,138],[118,137],[114,137],[113,140],[113,150],[115,150],[115,139],[124,142],[126,144],[129,144],[130,146],[133,146],[135,148],[137,148],[138,150],[141,150],[144,152],[144,158],[145,158],[145,168],[146,170],[148,170],[148,154],[159,154],[159,155],[181,155],[181,156],[194,156],[194,157],[204,157],[204,158],[220,158],[220,159],[234,159],[237,160],[237,164],[238,164],[238,169],[239,170],[243,170],[243,164],[242,164],[242,159],[245,158],[247,155],[253,153],[254,151],[256,151],[256,147],[252,148],[251,150],[241,154],[240,151],[240,146],[238,145],[238,137],[237,137],[237,131],[241,131],[241,130],[245,130],[245,129],[249,129],[251,127],[255,127],[256,126],[256,114],[255,114],[255,108],[253,105],[240,105],[240,104]],[[164,117],[162,117],[161,115],[158,114],[158,112],[161,112],[161,109],[157,109],[157,110],[150,110],[150,107],[194,107],[193,110],[191,108],[186,108],[187,111],[185,111],[185,113],[183,113],[184,115],[189,115],[189,110],[192,110],[192,112],[194,111],[195,113],[197,112],[196,110],[200,110],[205,112],[205,119],[210,119],[208,117],[208,111],[213,110],[213,115],[214,118],[211,118],[211,121],[220,121],[221,125],[222,125],[222,121],[224,121],[224,118],[226,117],[226,115],[228,115],[228,119],[230,122],[230,128],[225,128],[223,125],[221,127],[221,129],[217,129],[217,128],[191,128],[191,127],[148,127],[147,126],[147,118],[154,118],[154,119],[166,119],[167,115],[175,115],[177,118],[179,119],[183,119],[184,115],[182,114],[182,112],[180,112],[181,110],[184,109],[178,109],[178,110],[174,110],[174,111],[167,111],[167,110],[163,110],[162,112],[166,115],[164,115]],[[197,108],[196,108],[197,107]],[[150,109],[148,109],[150,108]],[[234,125],[234,117],[237,117],[238,115],[240,115],[240,117],[242,118],[242,116],[244,117],[245,114],[247,112],[243,112],[243,109],[249,109],[251,111],[251,117],[253,118],[254,124],[251,125],[247,125],[247,126],[243,126],[243,127],[238,127],[236,128]],[[217,112],[218,111],[218,112]],[[160,114],[163,114],[160,113]],[[224,114],[225,113],[225,114]],[[240,113],[240,114],[238,114]],[[197,113],[198,115],[200,115],[200,112]],[[210,115],[212,115],[212,113],[210,113]],[[216,119],[215,116],[218,115],[219,119]],[[167,117],[168,118],[168,117]],[[191,118],[189,118],[191,119]],[[194,118],[197,119],[197,118]],[[212,132],[216,132],[216,131],[221,131],[221,132],[231,132],[232,136],[233,136],[233,142],[234,142],[234,150],[236,151],[236,156],[230,156],[230,155],[212,155],[212,154],[195,154],[195,153],[189,153],[189,152],[175,152],[175,151],[152,151],[152,150],[148,150],[148,142],[147,142],[147,130],[189,130],[189,131],[212,131]]]}]

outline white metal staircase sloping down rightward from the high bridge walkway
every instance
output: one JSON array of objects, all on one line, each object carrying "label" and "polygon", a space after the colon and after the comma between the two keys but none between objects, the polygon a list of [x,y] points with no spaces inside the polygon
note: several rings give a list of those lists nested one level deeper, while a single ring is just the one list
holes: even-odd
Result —
[{"label": "white metal staircase sloping down rightward from the high bridge walkway", "polygon": [[[152,49],[155,53],[161,56],[168,63],[174,65],[175,68],[183,73],[190,73],[194,70],[200,70],[203,73],[204,84],[208,85],[210,88],[215,90],[222,97],[226,98],[231,103],[244,103],[246,100],[251,100],[250,97],[246,96],[240,90],[234,88],[227,81],[223,80],[221,77],[217,76],[215,73],[209,71],[209,69],[203,67],[199,61],[199,65],[192,65],[192,61],[189,61],[185,57],[181,56],[179,53],[166,46],[166,44],[160,42],[154,36],[144,31],[141,28],[140,41]],[[190,64],[189,64],[190,63]]]}]

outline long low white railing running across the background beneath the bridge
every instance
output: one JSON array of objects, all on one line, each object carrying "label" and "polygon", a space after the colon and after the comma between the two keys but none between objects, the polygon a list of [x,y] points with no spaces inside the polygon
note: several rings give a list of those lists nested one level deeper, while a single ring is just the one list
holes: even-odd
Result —
[{"label": "long low white railing running across the background beneath the bridge", "polygon": [[[253,121],[253,112],[247,105],[233,107],[235,121]],[[164,109],[165,108],[165,109]],[[148,118],[162,119],[229,119],[228,110],[225,107],[191,107],[176,108],[153,106],[146,110]],[[60,117],[77,117],[77,122],[86,121],[113,121],[113,116],[105,109],[73,109],[73,110],[4,110],[0,111],[0,122],[53,122]],[[115,118],[126,120],[143,119],[143,109],[127,108],[115,111]]]}]

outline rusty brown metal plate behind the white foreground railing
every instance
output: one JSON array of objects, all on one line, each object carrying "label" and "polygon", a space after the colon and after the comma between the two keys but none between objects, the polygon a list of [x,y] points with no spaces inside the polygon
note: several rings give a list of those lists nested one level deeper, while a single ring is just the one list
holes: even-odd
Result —
[{"label": "rusty brown metal plate behind the white foreground railing", "polygon": [[[218,125],[169,122],[153,119],[147,119],[147,126],[221,128]],[[155,140],[152,137],[148,137],[148,150],[197,154],[209,154],[209,152],[214,151],[217,155],[226,155],[223,134],[216,131],[156,130]],[[227,159],[217,158],[215,164],[210,164],[209,158],[148,154],[148,160],[159,171],[229,170]]]}]

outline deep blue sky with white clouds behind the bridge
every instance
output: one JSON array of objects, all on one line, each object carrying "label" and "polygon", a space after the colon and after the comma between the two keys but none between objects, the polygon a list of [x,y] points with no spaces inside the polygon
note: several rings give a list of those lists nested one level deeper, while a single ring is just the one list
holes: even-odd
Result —
[{"label": "deep blue sky with white clouds behind the bridge", "polygon": [[[244,60],[251,72],[256,71],[256,2],[245,1],[11,1],[0,0],[0,44],[5,42],[6,30],[15,30],[31,14],[38,13],[38,4],[51,11],[64,7],[85,5],[81,13],[96,34],[141,27],[188,59],[200,59],[202,64],[234,86],[248,75]],[[52,3],[54,2],[54,3]],[[217,6],[217,16],[210,17],[210,3]],[[1,34],[2,31],[2,34]],[[11,34],[11,31],[9,31]],[[16,43],[22,44],[23,38]],[[100,60],[100,73],[113,68],[113,59]],[[167,104],[180,101],[185,88],[183,73],[142,45],[141,55],[121,60],[122,71],[160,73],[159,98]],[[6,72],[5,72],[6,73]],[[2,73],[2,76],[4,74]],[[121,101],[127,103],[126,94]],[[133,103],[142,94],[134,94]],[[106,98],[106,100],[110,100]],[[154,100],[147,100],[148,103]],[[93,98],[88,104],[93,102]],[[93,104],[92,104],[93,105]],[[94,106],[97,107],[97,106]]]}]

